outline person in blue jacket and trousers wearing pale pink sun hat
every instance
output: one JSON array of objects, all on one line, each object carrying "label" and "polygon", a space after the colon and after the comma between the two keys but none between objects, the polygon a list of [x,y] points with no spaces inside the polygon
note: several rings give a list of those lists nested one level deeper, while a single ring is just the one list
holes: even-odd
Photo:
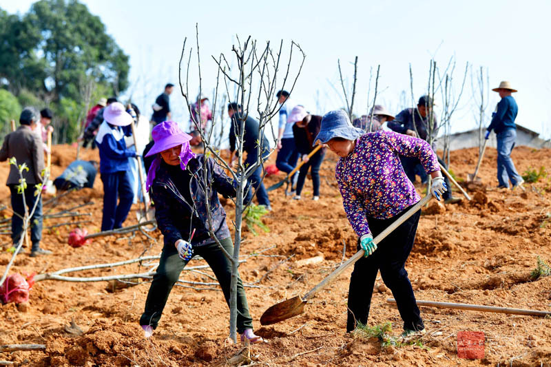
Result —
[{"label": "person in blue jacket and trousers wearing pale pink sun hat", "polygon": [[[101,230],[109,231],[123,227],[128,216],[134,191],[130,185],[128,158],[135,157],[136,151],[127,149],[123,127],[132,123],[120,102],[115,102],[103,112],[96,144],[99,149],[99,171],[103,182],[103,219]],[[117,205],[118,201],[118,205]]]}]

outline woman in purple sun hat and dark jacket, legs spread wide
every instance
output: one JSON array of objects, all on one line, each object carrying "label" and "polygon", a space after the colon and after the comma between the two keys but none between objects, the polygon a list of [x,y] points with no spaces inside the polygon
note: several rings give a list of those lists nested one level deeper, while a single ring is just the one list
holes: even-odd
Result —
[{"label": "woman in purple sun hat and dark jacket, legs spread wide", "polygon": [[[163,233],[165,244],[140,319],[146,337],[151,336],[157,327],[172,287],[194,255],[201,256],[211,266],[229,304],[231,262],[211,233],[228,253],[233,253],[226,212],[220,205],[218,193],[226,198],[236,196],[233,180],[212,158],[194,154],[189,147],[191,136],[182,132],[176,123],[164,121],[156,125],[152,137],[154,145],[146,157],[155,158],[145,185],[151,190],[157,226]],[[203,183],[205,174],[207,181],[211,182],[208,191]],[[211,220],[207,210],[211,213]],[[191,315],[189,322],[196,322]],[[250,343],[262,342],[262,337],[253,333],[253,319],[249,315],[240,277],[237,284],[237,331],[242,342],[245,339]]]}]

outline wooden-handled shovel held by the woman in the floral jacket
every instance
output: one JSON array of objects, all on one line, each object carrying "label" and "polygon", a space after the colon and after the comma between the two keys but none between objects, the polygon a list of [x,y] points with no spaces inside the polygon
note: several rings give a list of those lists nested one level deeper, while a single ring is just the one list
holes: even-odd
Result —
[{"label": "wooden-handled shovel held by the woman in the floral jacket", "polygon": [[[426,205],[431,198],[433,198],[433,196],[431,195],[422,198],[422,200],[417,202],[417,204],[415,204],[411,209],[406,211],[406,213],[404,213],[400,218],[393,222],[393,224],[384,229],[384,231],[382,231],[380,235],[377,235],[373,242],[379,243],[384,240],[384,238],[388,234],[397,229],[397,227],[408,220],[410,216],[413,216],[413,214],[417,213],[419,209]],[[324,289],[329,283],[333,282],[333,280],[341,275],[344,270],[348,269],[352,264],[357,262],[357,260],[360,260],[362,256],[364,256],[364,254],[364,250],[357,251],[357,253],[355,253],[349,260],[346,260],[346,262],[344,262],[335,271],[333,271],[333,273],[329,274],[324,280],[322,280],[322,282],[311,289],[311,291],[306,293],[304,297],[300,297],[300,295],[298,295],[289,300],[274,304],[273,306],[268,308],[266,311],[264,311],[262,317],[260,317],[260,324],[271,325],[304,313],[304,306],[315,295],[315,293],[318,293],[319,291]]]}]

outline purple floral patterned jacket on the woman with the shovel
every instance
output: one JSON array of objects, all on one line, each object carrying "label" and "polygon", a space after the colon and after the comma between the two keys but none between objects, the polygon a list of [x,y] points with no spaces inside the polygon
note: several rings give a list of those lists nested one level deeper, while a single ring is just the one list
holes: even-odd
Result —
[{"label": "purple floral patterned jacket on the woman with the shovel", "polygon": [[419,158],[427,174],[440,170],[425,140],[383,130],[360,136],[351,154],[337,162],[344,211],[360,237],[371,234],[368,217],[392,218],[421,199],[398,155]]}]

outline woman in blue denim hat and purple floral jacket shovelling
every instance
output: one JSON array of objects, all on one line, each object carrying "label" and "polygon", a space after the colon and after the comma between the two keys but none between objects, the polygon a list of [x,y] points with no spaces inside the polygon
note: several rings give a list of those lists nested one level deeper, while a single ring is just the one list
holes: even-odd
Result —
[{"label": "woman in blue denim hat and purple floral jacket shovelling", "polygon": [[420,200],[399,155],[419,158],[427,174],[433,177],[431,192],[440,200],[446,185],[433,149],[422,139],[395,132],[365,134],[351,125],[343,111],[329,112],[323,117],[315,143],[318,140],[340,156],[335,177],[344,211],[358,235],[358,249],[365,251],[351,275],[346,331],[353,331],[357,323],[367,324],[375,278],[377,271],[381,271],[404,320],[402,335],[423,334],[423,320],[404,268],[415,240],[420,211],[380,243],[375,244],[373,236]]}]

